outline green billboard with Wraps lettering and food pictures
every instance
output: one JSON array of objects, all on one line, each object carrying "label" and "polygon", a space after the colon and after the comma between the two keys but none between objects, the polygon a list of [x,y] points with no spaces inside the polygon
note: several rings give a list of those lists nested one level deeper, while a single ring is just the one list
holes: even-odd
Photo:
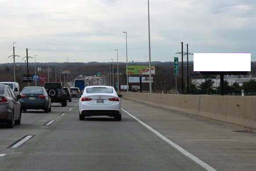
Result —
[{"label": "green billboard with Wraps lettering and food pictures", "polygon": [[[129,65],[127,67],[128,75],[150,75],[148,65]],[[151,75],[155,75],[155,66],[151,66]]]}]

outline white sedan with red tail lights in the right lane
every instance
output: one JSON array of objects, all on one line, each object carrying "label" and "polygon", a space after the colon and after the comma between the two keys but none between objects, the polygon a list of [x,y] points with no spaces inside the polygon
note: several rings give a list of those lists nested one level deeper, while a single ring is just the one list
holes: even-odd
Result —
[{"label": "white sedan with red tail lights in the right lane", "polygon": [[121,95],[110,86],[88,86],[79,99],[79,120],[85,116],[110,116],[121,120]]}]

